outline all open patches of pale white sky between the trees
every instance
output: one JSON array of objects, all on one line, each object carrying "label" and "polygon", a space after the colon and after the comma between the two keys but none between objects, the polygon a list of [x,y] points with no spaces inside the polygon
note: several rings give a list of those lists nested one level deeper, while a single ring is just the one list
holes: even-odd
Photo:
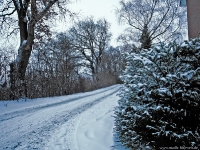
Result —
[{"label": "all open patches of pale white sky between the trees", "polygon": [[[72,4],[69,4],[69,10],[72,12],[79,12],[79,19],[93,16],[95,20],[100,18],[105,18],[110,24],[112,33],[112,40],[110,45],[117,46],[116,38],[123,32],[124,27],[118,25],[117,17],[115,14],[116,7],[119,7],[120,0],[74,0]],[[53,24],[57,32],[66,31],[72,25],[72,21],[68,19],[56,21]],[[54,30],[54,31],[55,31]],[[16,38],[15,38],[16,39]],[[0,40],[0,44],[5,42],[5,40]],[[6,40],[6,43],[8,41]],[[15,42],[14,47],[18,49],[19,42]]]}]

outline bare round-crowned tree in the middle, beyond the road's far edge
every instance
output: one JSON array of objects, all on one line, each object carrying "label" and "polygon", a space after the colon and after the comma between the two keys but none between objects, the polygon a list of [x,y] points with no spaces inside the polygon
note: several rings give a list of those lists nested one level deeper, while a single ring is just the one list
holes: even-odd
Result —
[{"label": "bare round-crowned tree in the middle, beyond the road's far edge", "polygon": [[95,23],[93,18],[87,18],[69,30],[72,47],[83,56],[83,63],[91,69],[93,81],[98,80],[96,75],[102,53],[110,41],[109,28],[110,25],[105,19],[100,19]]}]

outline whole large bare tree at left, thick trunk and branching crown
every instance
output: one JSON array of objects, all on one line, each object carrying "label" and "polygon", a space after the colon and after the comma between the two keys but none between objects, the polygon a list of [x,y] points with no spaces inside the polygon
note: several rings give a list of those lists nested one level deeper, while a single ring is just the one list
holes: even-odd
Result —
[{"label": "whole large bare tree at left, thick trunk and branching crown", "polygon": [[[20,46],[16,59],[10,64],[11,99],[26,97],[25,72],[38,32],[48,32],[45,20],[65,14],[69,0],[5,0],[0,6],[0,31],[20,33]],[[57,7],[56,7],[57,6]],[[40,38],[41,36],[38,36]]]}]

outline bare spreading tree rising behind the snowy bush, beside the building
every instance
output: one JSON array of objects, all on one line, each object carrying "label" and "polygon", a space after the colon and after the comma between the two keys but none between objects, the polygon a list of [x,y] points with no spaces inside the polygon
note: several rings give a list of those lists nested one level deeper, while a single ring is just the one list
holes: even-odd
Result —
[{"label": "bare spreading tree rising behind the snowy bush, beside the building", "polygon": [[176,0],[121,0],[120,5],[119,22],[128,25],[120,39],[140,42],[142,48],[177,38],[186,24],[186,10]]}]

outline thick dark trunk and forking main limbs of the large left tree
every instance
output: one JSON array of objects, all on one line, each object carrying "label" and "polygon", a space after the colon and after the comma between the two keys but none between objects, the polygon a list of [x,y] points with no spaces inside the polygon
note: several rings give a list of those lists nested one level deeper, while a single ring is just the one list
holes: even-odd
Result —
[{"label": "thick dark trunk and forking main limbs of the large left tree", "polygon": [[[25,98],[27,96],[25,73],[28,66],[29,58],[31,55],[34,43],[34,28],[36,23],[41,20],[49,9],[58,1],[50,0],[48,5],[38,13],[36,0],[12,0],[17,10],[19,28],[20,28],[20,47],[16,60],[10,64],[10,84],[11,84],[11,99]],[[29,4],[31,6],[29,6]],[[38,4],[39,5],[39,4]],[[28,8],[31,10],[28,14]],[[27,20],[28,18],[28,20]]]}]

